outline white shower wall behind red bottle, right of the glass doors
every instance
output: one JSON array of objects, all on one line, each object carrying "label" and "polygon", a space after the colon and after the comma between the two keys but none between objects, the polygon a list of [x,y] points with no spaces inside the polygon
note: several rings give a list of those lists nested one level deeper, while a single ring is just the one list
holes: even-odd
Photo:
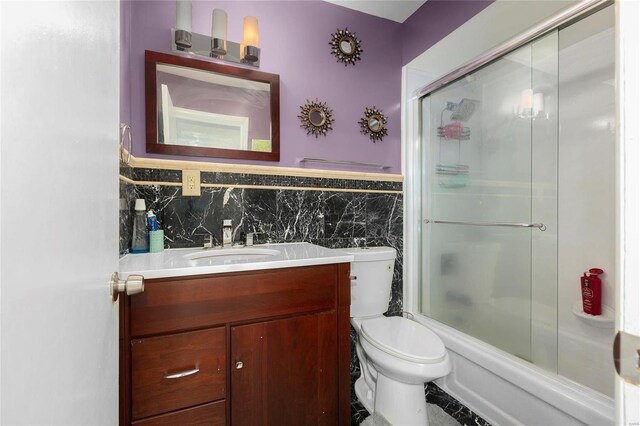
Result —
[{"label": "white shower wall behind red bottle, right of the glass doors", "polygon": [[558,147],[558,373],[613,397],[614,330],[572,313],[579,277],[602,268],[615,306],[614,10],[560,32]]}]

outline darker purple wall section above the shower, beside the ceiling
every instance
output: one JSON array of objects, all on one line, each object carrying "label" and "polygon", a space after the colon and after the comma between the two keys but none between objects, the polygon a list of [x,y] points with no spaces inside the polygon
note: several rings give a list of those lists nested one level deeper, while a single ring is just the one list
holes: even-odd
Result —
[{"label": "darker purple wall section above the shower, beside the ceiling", "polygon": [[427,1],[402,23],[402,65],[411,62],[493,2],[494,0]]}]

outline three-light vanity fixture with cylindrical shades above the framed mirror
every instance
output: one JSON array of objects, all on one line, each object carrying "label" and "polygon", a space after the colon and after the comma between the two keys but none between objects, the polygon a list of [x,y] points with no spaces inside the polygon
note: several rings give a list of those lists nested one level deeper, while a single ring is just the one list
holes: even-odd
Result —
[{"label": "three-light vanity fixture with cylindrical shades above the framed mirror", "polygon": [[213,9],[211,36],[191,31],[191,0],[176,0],[176,27],[172,29],[173,51],[221,59],[236,64],[260,66],[258,18],[245,16],[242,43],[227,40],[227,12]]}]

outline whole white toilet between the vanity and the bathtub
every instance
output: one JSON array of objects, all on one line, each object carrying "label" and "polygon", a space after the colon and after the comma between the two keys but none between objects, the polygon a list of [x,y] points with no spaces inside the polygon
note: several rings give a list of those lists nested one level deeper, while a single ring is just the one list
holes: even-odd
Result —
[{"label": "whole white toilet between the vanity and the bathtub", "polygon": [[342,249],[351,264],[351,325],[358,332],[360,378],[355,391],[370,413],[394,426],[427,425],[424,383],[451,371],[449,355],[431,330],[403,317],[385,317],[396,251]]}]

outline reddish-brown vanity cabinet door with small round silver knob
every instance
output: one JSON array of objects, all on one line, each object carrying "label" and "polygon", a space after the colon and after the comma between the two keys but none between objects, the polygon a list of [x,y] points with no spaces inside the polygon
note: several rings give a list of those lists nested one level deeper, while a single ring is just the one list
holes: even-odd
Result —
[{"label": "reddish-brown vanity cabinet door with small round silver knob", "polygon": [[231,329],[231,423],[338,424],[335,311]]}]

